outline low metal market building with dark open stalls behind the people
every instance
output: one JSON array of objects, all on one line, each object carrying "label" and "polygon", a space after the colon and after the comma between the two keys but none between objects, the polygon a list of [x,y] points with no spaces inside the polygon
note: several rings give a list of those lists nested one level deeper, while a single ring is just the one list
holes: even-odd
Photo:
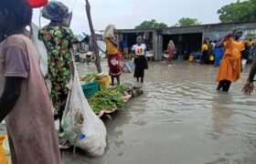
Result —
[{"label": "low metal market building with dark open stalls behind the people", "polygon": [[256,22],[174,26],[146,30],[120,29],[117,31],[121,40],[126,39],[129,47],[136,43],[136,36],[144,36],[149,50],[154,52],[155,60],[161,60],[171,39],[176,44],[177,53],[184,55],[200,51],[204,39],[208,38],[211,41],[218,41],[234,30],[243,31],[243,39],[256,38]]}]

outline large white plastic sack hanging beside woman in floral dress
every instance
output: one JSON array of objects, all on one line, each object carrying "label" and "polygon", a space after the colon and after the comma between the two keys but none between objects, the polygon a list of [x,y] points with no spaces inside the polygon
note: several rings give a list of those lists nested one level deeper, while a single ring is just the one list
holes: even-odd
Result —
[{"label": "large white plastic sack hanging beside woman in floral dress", "polygon": [[107,146],[107,131],[101,119],[91,110],[76,70],[70,87],[61,123],[65,137],[72,145],[87,151],[91,156],[101,156]]}]

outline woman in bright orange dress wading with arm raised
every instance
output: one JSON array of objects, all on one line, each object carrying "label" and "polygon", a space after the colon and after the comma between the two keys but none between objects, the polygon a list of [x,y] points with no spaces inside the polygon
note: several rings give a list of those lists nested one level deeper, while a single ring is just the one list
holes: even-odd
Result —
[{"label": "woman in bright orange dress wading with arm raised", "polygon": [[240,34],[241,33],[228,35],[223,40],[225,53],[220,63],[219,73],[217,75],[217,82],[219,83],[217,90],[222,89],[224,92],[229,92],[231,83],[240,79],[240,57],[241,51],[244,49],[243,44],[236,41],[241,36]]}]

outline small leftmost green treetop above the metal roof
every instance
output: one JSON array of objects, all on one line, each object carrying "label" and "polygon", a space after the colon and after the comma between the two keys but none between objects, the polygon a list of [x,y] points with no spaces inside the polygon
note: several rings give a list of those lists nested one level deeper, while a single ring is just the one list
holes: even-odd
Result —
[{"label": "small leftmost green treetop above the metal roof", "polygon": [[151,29],[151,28],[166,28],[168,27],[165,23],[156,22],[155,19],[147,20],[141,23],[139,26],[135,26],[135,29]]}]

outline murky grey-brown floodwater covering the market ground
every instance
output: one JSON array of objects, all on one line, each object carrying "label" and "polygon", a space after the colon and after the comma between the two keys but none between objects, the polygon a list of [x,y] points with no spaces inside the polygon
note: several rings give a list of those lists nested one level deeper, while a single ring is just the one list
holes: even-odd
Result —
[{"label": "murky grey-brown floodwater covering the market ground", "polygon": [[[94,70],[79,67],[80,73]],[[105,122],[105,154],[64,153],[65,164],[255,164],[256,96],[240,91],[249,67],[229,94],[216,91],[217,71],[150,63],[144,95]],[[133,82],[133,74],[123,74],[123,81]]]}]

